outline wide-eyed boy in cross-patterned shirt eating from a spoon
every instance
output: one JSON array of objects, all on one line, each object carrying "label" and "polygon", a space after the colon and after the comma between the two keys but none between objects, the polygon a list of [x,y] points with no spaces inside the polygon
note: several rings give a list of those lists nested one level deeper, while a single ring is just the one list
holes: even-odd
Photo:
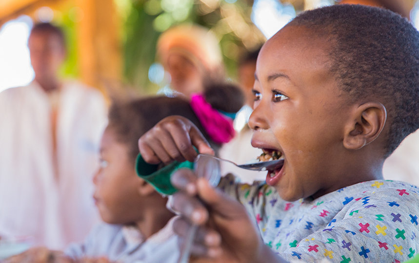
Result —
[{"label": "wide-eyed boy in cross-patterned shirt eating from a spoon", "polygon": [[[223,192],[191,170],[174,174],[180,192],[171,204],[183,216],[174,228],[185,237],[190,222],[200,225],[195,257],[216,262],[413,257],[419,246],[418,189],[382,180],[381,170],[419,127],[417,30],[375,7],[307,11],[264,44],[255,76],[252,145],[280,154],[284,163],[268,171],[264,185],[238,185],[224,177]],[[211,152],[181,117],[163,120],[139,145],[151,163],[192,160],[192,145]]]}]

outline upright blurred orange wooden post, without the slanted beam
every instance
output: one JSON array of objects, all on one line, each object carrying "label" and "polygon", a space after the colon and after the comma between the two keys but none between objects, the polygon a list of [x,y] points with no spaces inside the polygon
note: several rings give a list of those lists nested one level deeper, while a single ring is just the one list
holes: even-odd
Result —
[{"label": "upright blurred orange wooden post, without the slanted beam", "polygon": [[106,92],[121,79],[119,20],[113,0],[75,0],[82,11],[77,24],[80,76]]}]

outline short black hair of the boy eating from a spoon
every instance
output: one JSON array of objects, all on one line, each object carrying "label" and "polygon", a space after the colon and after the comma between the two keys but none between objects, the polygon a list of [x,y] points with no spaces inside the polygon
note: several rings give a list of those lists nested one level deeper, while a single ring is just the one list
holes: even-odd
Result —
[{"label": "short black hair of the boy eating from a spoon", "polygon": [[390,125],[385,156],[419,128],[419,33],[391,11],[339,4],[306,11],[289,25],[329,40],[331,72],[351,102],[378,99]]}]

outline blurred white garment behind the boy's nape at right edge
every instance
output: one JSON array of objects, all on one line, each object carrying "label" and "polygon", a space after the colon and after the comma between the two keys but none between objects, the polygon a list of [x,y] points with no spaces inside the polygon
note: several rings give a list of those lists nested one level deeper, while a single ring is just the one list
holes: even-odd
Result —
[{"label": "blurred white garment behind the boy's nape at right edge", "polygon": [[385,160],[383,176],[419,186],[419,130],[407,136]]}]

